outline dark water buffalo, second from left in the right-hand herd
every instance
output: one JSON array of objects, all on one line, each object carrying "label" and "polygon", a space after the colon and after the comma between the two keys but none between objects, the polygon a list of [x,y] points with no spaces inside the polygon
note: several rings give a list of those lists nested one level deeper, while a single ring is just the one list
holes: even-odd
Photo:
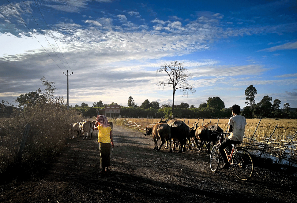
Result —
[{"label": "dark water buffalo, second from left in the right-hand herd", "polygon": [[[172,150],[175,150],[175,141],[178,140],[181,147],[179,153],[186,151],[187,138],[190,140],[190,128],[182,120],[160,120],[160,123],[167,123],[171,127],[171,138],[173,139]],[[190,145],[189,145],[190,149]]]}]

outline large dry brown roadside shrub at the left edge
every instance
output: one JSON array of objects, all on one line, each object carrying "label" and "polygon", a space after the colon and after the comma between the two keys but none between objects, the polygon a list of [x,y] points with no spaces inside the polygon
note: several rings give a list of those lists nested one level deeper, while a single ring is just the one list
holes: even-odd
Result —
[{"label": "large dry brown roadside shrub at the left edge", "polygon": [[[41,93],[41,92],[39,92]],[[0,179],[20,173],[36,174],[48,164],[65,147],[69,138],[66,125],[83,120],[83,116],[75,109],[67,110],[63,98],[53,98],[33,106],[24,106],[15,110],[8,119],[2,120],[6,129],[5,141],[0,145]],[[30,125],[28,138],[21,159],[18,152],[26,124]],[[12,173],[16,171],[15,173]]]}]

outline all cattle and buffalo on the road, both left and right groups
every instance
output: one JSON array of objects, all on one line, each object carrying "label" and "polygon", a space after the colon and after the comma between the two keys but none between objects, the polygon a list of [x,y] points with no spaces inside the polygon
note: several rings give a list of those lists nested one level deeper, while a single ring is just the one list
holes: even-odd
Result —
[{"label": "all cattle and buffalo on the road, both left and right groups", "polygon": [[[77,123],[68,124],[66,130],[69,130],[70,137],[74,138],[83,137],[83,139],[91,139],[94,133],[93,126],[96,121],[85,121],[82,120]],[[111,121],[108,122],[113,127]],[[175,151],[176,146],[179,146],[179,153],[186,151],[186,143],[189,143],[189,149],[191,149],[190,141],[192,146],[198,146],[200,144],[199,151],[201,151],[203,145],[207,146],[208,153],[210,153],[210,144],[216,143],[218,132],[224,132],[222,128],[218,125],[207,124],[205,126],[194,125],[194,127],[189,127],[182,120],[160,120],[160,122],[153,127],[146,127],[144,135],[152,135],[155,143],[154,150],[159,151],[161,147],[166,142],[166,148],[169,149],[169,152],[172,153],[172,150]],[[96,133],[96,131],[95,131]],[[161,145],[158,146],[158,140],[161,140]],[[172,143],[173,142],[173,143]],[[179,144],[178,144],[179,143]],[[171,146],[172,145],[172,146]]]}]

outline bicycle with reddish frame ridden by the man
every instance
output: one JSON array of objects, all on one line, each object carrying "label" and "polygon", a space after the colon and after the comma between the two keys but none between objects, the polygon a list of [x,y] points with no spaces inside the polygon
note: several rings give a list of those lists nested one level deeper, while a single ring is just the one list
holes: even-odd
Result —
[{"label": "bicycle with reddish frame ridden by the man", "polygon": [[[230,135],[230,133],[217,133],[217,144],[212,147],[212,150],[210,152],[209,164],[212,172],[217,171],[220,165],[220,161],[222,159],[218,149],[219,145],[221,144],[224,135]],[[226,149],[224,149],[224,152],[228,157],[229,163],[232,166],[233,172],[235,173],[236,177],[243,181],[251,179],[254,173],[254,164],[250,153],[245,149],[242,149],[242,147],[236,147],[236,144],[232,144],[232,150],[229,155]]]}]

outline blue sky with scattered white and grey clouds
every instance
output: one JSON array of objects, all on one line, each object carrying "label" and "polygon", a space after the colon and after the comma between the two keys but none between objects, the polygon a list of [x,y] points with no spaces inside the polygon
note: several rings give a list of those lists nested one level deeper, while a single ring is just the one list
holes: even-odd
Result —
[{"label": "blue sky with scattered white and grey clouds", "polygon": [[0,100],[16,105],[44,77],[67,101],[68,71],[70,106],[172,105],[156,70],[179,61],[195,93],[177,90],[175,105],[217,96],[243,108],[253,85],[256,103],[296,108],[296,11],[296,0],[0,0]]}]

